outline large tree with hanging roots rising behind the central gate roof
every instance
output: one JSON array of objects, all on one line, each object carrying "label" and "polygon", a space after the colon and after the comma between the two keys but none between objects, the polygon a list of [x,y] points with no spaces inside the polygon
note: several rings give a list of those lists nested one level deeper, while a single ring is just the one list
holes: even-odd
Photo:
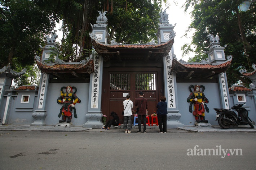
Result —
[{"label": "large tree with hanging roots rising behind the central gate roof", "polygon": [[[161,0],[59,0],[63,38],[60,58],[66,62],[85,59],[92,49],[90,24],[96,23],[97,11],[107,11],[108,43],[146,43],[155,38],[159,23]],[[166,2],[166,0],[164,0]]]}]

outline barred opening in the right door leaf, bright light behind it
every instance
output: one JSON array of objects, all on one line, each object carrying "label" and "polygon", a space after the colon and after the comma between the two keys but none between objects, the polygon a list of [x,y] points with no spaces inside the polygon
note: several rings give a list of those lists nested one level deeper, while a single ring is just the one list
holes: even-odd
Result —
[{"label": "barred opening in the right door leaf, bright light behind it", "polygon": [[155,73],[138,73],[135,77],[136,90],[155,90]]}]

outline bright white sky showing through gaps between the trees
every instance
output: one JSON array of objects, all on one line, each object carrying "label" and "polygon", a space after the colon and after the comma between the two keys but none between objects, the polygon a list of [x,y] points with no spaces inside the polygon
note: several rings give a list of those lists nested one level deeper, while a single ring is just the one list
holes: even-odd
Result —
[{"label": "bright white sky showing through gaps between the trees", "polygon": [[[184,61],[187,61],[189,59],[189,57],[194,57],[193,53],[190,53],[190,55],[188,56],[184,56],[183,58],[181,57],[182,51],[181,51],[181,47],[187,42],[191,42],[191,37],[193,35],[193,33],[188,33],[188,37],[182,37],[185,32],[187,27],[189,27],[190,23],[191,23],[191,18],[190,18],[190,14],[189,12],[184,13],[184,9],[181,8],[181,6],[185,3],[185,0],[176,0],[177,1],[177,6],[173,3],[173,0],[168,0],[169,3],[171,4],[170,8],[167,9],[167,14],[168,14],[168,19],[169,19],[169,23],[172,24],[173,26],[176,23],[176,26],[174,27],[174,31],[176,33],[176,36],[174,37],[174,44],[173,44],[173,50],[174,50],[174,54],[176,55],[176,58],[178,60],[182,59]],[[163,11],[166,9],[166,7],[163,7]],[[62,23],[60,23],[61,25]],[[93,24],[93,23],[92,23]],[[57,41],[60,42],[60,40],[62,39],[62,32],[58,31],[58,29],[60,28],[60,25],[57,24],[56,29],[57,29],[57,35],[58,35],[58,39]]]}]

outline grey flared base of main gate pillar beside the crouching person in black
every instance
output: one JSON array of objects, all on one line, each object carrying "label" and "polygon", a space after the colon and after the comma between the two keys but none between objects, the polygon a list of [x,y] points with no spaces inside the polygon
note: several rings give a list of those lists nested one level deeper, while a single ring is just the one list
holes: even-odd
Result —
[{"label": "grey flared base of main gate pillar beside the crouching person in black", "polygon": [[87,119],[87,122],[83,124],[84,128],[93,128],[93,129],[101,129],[102,128],[102,113],[87,113],[85,115],[85,118]]}]

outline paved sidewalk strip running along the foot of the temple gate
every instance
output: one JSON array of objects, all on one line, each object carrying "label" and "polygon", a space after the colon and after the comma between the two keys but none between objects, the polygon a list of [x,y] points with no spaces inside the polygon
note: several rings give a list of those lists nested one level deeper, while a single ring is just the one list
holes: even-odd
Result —
[{"label": "paved sidewalk strip running along the foot of the temple gate", "polygon": [[[102,126],[103,127],[103,126]],[[142,126],[143,129],[143,126]],[[81,126],[58,126],[58,125],[46,125],[46,126],[30,126],[30,125],[0,125],[0,131],[12,130],[12,131],[41,131],[41,132],[124,132],[123,125],[112,127],[110,130],[105,129],[92,129],[84,128]],[[132,126],[131,131],[135,133],[138,130],[138,125]],[[159,131],[159,127],[156,125],[148,126],[147,133],[156,133]],[[179,133],[179,132],[256,132],[256,129],[252,129],[249,125],[231,127],[229,129],[222,129],[219,125],[212,125],[209,127],[197,127],[197,126],[184,126],[176,129],[167,129],[167,132]]]}]

